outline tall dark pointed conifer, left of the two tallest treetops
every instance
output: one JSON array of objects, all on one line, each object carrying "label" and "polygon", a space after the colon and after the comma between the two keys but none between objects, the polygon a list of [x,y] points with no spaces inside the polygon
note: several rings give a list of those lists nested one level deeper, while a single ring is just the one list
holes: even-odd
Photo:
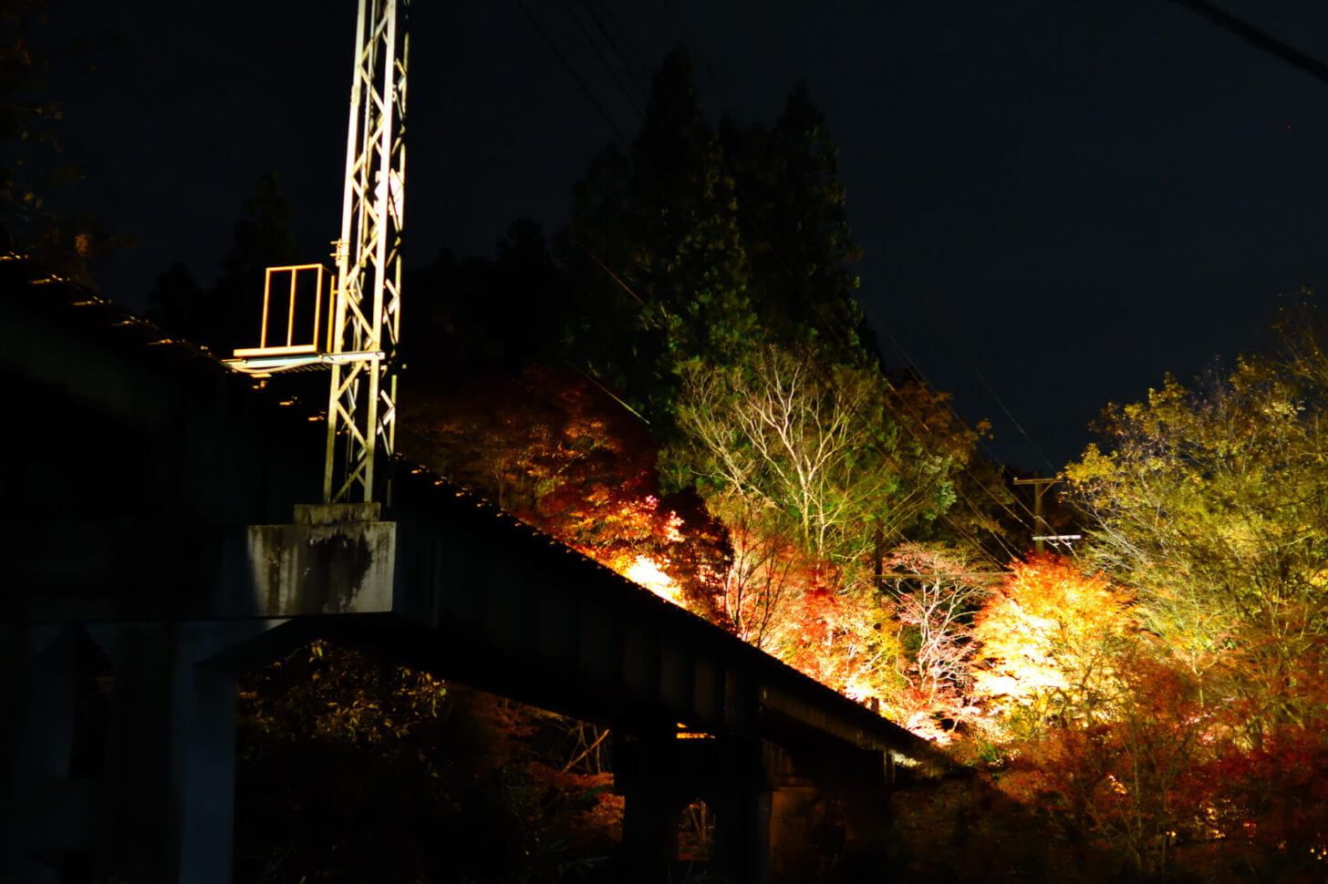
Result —
[{"label": "tall dark pointed conifer, left of the two tallest treetops", "polygon": [[578,184],[563,250],[583,307],[571,353],[665,435],[679,368],[760,340],[733,181],[684,49],[656,72],[629,157],[600,153]]}]

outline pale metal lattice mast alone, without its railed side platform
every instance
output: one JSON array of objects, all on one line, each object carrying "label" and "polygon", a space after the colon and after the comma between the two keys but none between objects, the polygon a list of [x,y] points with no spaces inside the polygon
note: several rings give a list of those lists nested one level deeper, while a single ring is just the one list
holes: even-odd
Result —
[{"label": "pale metal lattice mast alone, without its railed side platform", "polygon": [[[401,12],[398,13],[398,5]],[[360,0],[347,126],[336,303],[328,349],[323,499],[373,499],[373,465],[396,451],[401,222],[406,181],[405,17],[409,0]]]}]

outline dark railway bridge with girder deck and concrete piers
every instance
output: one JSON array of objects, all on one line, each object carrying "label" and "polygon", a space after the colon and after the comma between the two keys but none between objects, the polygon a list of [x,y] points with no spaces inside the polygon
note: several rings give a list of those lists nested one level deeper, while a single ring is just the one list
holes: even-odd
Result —
[{"label": "dark railway bridge with girder deck and concrete piers", "polygon": [[442,478],[312,504],[321,423],[85,289],[9,258],[0,311],[0,880],[230,881],[236,680],[317,637],[612,727],[623,880],[663,880],[697,795],[737,881],[827,790],[879,852],[896,769],[951,766]]}]

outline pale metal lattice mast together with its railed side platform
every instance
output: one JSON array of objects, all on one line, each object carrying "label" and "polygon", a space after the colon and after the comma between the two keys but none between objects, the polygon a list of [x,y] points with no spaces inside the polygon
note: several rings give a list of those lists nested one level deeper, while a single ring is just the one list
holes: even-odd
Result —
[{"label": "pale metal lattice mast together with its railed side platform", "polygon": [[268,268],[259,345],[226,360],[254,377],[331,370],[325,503],[373,500],[374,462],[396,451],[408,8],[359,3],[335,275],[325,284],[321,264]]}]

